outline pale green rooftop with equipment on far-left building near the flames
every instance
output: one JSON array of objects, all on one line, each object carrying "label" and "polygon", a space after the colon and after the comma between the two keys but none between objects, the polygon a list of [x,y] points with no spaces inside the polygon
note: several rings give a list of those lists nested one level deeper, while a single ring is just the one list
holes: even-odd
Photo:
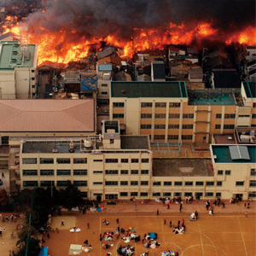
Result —
[{"label": "pale green rooftop with equipment on far-left building near the flames", "polygon": [[19,67],[34,67],[36,44],[28,44],[29,54],[21,58],[18,41],[1,41],[0,71],[13,71]]}]

